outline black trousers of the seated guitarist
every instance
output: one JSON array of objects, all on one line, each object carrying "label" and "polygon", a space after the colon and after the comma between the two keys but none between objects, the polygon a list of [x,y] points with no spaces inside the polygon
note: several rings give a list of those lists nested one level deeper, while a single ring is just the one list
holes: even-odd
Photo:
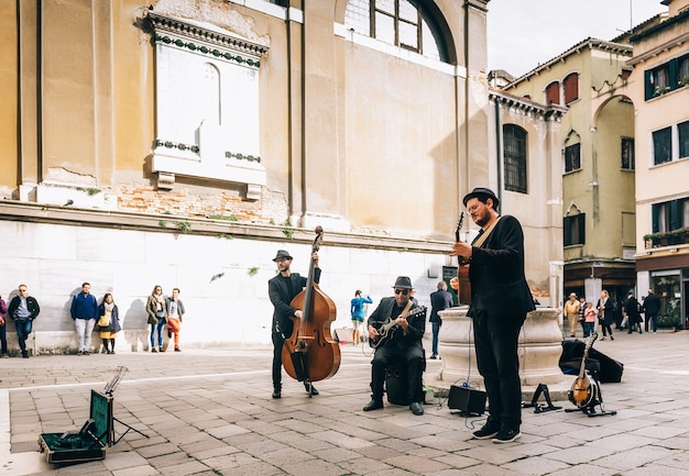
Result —
[{"label": "black trousers of the seated guitarist", "polygon": [[373,361],[371,361],[371,392],[376,400],[383,399],[383,385],[385,383],[385,369],[389,364],[395,363],[405,366],[407,369],[407,399],[412,401],[423,401],[423,378],[426,368],[426,356],[424,347],[413,345],[400,348],[395,345],[384,345],[375,350]]}]

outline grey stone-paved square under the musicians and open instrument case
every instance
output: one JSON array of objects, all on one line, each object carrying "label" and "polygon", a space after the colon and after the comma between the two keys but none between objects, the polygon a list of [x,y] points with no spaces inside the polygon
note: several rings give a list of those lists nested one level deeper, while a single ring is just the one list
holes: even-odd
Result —
[{"label": "grey stone-paved square under the musicians and open instrument case", "polygon": [[[392,405],[364,413],[370,356],[352,345],[319,396],[286,377],[280,400],[269,347],[1,359],[0,476],[689,476],[689,332],[615,336],[595,348],[625,365],[622,383],[602,387],[616,416],[524,409],[522,438],[503,445],[471,440],[483,418],[440,399],[422,417]],[[130,431],[99,462],[45,463],[39,435],[80,428],[90,390],[118,365],[129,372],[114,417],[150,438]],[[428,361],[427,385],[440,365]],[[116,423],[118,436],[125,429]]]}]

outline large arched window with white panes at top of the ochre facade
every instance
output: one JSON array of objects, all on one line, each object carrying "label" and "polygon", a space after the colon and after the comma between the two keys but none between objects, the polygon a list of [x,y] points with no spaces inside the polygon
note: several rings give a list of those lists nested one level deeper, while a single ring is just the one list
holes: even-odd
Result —
[{"label": "large arched window with white panes at top of the ochre facade", "polygon": [[429,58],[450,62],[440,29],[419,0],[349,0],[344,26]]}]

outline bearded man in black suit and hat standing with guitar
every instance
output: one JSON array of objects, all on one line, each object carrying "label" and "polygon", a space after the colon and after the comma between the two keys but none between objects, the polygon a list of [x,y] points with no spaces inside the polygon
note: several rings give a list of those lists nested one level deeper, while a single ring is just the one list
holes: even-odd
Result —
[{"label": "bearded man in black suit and hat standing with guitar", "polygon": [[488,421],[473,438],[507,443],[522,435],[517,341],[526,313],[535,309],[524,276],[524,232],[516,218],[497,213],[492,190],[474,188],[462,201],[481,228],[472,244],[455,243],[450,254],[470,265],[469,316],[489,400]]}]

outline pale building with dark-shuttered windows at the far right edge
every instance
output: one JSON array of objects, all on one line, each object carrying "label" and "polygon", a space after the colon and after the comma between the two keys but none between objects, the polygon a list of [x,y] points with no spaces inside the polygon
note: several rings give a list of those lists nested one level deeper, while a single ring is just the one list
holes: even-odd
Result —
[{"label": "pale building with dark-shuttered windows at the far right edge", "polygon": [[661,300],[664,326],[689,318],[689,1],[630,41],[636,108],[637,292]]}]

